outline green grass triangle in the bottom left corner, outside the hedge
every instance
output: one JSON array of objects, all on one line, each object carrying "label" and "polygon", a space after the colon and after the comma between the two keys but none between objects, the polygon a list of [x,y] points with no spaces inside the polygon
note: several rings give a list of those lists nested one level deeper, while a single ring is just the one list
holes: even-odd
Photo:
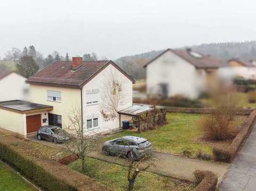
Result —
[{"label": "green grass triangle in the bottom left corner, outside the hedge", "polygon": [[36,189],[0,162],[0,191],[36,191]]}]

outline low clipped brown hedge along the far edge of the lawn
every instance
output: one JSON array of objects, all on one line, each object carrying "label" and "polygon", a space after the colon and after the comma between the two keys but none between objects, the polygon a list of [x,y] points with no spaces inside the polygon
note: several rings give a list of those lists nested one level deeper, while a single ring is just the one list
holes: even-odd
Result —
[{"label": "low clipped brown hedge along the far edge of the lawn", "polygon": [[[195,107],[166,107],[169,113],[188,113],[188,114],[211,114],[211,107],[195,108]],[[253,109],[241,109],[238,115],[250,115]]]}]

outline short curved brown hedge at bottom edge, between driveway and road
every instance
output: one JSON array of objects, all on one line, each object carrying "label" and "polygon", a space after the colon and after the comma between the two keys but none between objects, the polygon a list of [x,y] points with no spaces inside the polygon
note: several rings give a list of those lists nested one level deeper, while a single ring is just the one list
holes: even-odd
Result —
[{"label": "short curved brown hedge at bottom edge, between driveway and road", "polygon": [[194,176],[198,184],[194,191],[215,191],[218,178],[213,172],[196,170]]}]

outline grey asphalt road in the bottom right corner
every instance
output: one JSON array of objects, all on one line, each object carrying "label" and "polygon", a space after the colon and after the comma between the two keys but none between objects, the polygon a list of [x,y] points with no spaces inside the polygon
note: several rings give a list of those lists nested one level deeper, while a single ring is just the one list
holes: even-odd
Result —
[{"label": "grey asphalt road in the bottom right corner", "polygon": [[219,191],[256,191],[256,124],[235,157]]}]

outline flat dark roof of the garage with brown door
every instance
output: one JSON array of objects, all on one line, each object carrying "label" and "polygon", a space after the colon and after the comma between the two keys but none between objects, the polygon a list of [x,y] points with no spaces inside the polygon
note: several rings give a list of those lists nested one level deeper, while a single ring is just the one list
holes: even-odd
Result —
[{"label": "flat dark roof of the garage with brown door", "polygon": [[13,111],[20,114],[29,114],[41,111],[49,111],[52,110],[53,107],[37,103],[31,103],[28,101],[11,100],[0,102],[0,109]]}]

